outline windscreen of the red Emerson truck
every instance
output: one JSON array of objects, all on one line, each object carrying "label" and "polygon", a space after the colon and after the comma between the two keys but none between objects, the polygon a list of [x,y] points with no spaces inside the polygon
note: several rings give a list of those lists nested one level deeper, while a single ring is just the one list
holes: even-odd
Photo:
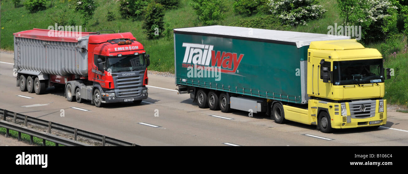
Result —
[{"label": "windscreen of the red Emerson truck", "polygon": [[101,58],[106,61],[106,70],[111,69],[112,73],[146,69],[146,59],[144,58],[144,55],[129,55],[121,57],[101,56]]}]

